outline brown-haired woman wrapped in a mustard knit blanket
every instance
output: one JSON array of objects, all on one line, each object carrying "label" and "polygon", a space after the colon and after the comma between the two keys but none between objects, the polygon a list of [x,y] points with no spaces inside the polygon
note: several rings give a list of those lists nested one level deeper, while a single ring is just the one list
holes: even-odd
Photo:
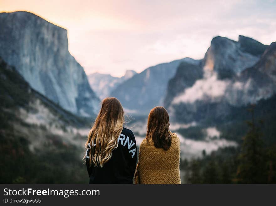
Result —
[{"label": "brown-haired woman wrapped in a mustard knit blanket", "polygon": [[136,184],[180,184],[180,140],[169,131],[169,114],[164,107],[151,109],[146,139],[140,145]]}]

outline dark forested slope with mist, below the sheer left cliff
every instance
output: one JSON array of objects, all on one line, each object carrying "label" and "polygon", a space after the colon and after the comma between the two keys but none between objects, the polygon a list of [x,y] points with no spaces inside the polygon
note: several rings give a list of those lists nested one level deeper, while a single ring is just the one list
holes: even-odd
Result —
[{"label": "dark forested slope with mist, below the sheer left cliff", "polygon": [[92,120],[35,91],[1,57],[0,79],[0,182],[85,183],[83,145]]}]

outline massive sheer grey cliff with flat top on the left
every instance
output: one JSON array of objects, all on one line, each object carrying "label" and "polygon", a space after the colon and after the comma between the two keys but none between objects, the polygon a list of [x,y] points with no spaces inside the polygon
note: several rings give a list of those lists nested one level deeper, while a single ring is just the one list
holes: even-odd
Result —
[{"label": "massive sheer grey cliff with flat top on the left", "polygon": [[68,51],[66,29],[22,11],[0,13],[0,28],[0,56],[32,88],[74,114],[97,112],[99,99]]}]

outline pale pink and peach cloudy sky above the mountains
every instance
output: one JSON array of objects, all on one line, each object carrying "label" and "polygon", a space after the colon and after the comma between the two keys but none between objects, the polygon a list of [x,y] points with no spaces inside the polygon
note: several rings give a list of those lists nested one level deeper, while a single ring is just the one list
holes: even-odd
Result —
[{"label": "pale pink and peach cloudy sky above the mountains", "polygon": [[67,29],[69,51],[87,75],[121,77],[129,69],[201,59],[218,35],[276,41],[276,0],[0,0],[0,12],[19,10]]}]

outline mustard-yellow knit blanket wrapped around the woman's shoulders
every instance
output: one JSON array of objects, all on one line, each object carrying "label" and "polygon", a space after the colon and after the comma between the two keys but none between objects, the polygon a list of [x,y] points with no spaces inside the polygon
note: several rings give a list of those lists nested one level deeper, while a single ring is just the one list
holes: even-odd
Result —
[{"label": "mustard-yellow knit blanket wrapped around the woman's shoulders", "polygon": [[171,135],[172,144],[167,151],[157,149],[152,140],[149,140],[149,144],[146,139],[142,141],[134,175],[135,184],[181,184],[180,140],[175,133]]}]

